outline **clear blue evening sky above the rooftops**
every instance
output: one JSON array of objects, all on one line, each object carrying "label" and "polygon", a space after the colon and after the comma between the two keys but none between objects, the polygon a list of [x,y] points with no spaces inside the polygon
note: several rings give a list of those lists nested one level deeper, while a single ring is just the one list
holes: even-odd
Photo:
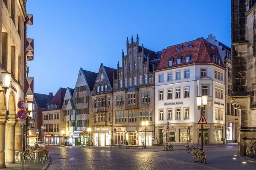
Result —
[{"label": "clear blue evening sky above the rooftops", "polygon": [[116,68],[131,35],[153,51],[208,34],[230,47],[230,7],[230,0],[28,0],[34,92],[74,88],[79,68]]}]

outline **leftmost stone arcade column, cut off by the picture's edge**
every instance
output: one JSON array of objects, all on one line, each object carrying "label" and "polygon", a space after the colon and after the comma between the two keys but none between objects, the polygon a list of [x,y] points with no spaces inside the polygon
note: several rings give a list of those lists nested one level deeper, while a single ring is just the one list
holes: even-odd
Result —
[{"label": "leftmost stone arcade column, cut off by the picture's edge", "polygon": [[5,168],[5,124],[6,120],[0,119],[0,168]]}]

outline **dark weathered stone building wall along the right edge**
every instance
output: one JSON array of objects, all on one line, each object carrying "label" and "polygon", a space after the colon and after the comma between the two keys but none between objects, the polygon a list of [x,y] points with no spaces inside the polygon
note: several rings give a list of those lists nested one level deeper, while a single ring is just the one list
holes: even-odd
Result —
[{"label": "dark weathered stone building wall along the right edge", "polygon": [[230,99],[240,112],[239,154],[256,141],[256,2],[231,1],[232,86]]}]

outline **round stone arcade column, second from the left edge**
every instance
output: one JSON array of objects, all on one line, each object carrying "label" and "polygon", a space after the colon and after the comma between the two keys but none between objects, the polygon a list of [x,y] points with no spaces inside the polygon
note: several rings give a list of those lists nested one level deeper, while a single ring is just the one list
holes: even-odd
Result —
[{"label": "round stone arcade column, second from the left edge", "polygon": [[15,121],[6,122],[6,163],[15,162]]}]

